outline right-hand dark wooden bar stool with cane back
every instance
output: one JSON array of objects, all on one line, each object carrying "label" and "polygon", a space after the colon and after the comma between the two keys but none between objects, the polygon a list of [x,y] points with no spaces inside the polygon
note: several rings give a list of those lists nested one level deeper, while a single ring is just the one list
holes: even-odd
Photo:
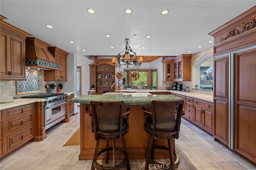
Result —
[{"label": "right-hand dark wooden bar stool with cane back", "polygon": [[[146,131],[150,134],[150,140],[148,148],[146,150],[146,165],[145,170],[149,169],[150,164],[158,165],[158,168],[172,169],[176,167],[174,161],[174,138],[179,138],[180,121],[182,115],[182,107],[184,101],[151,101],[152,113],[144,110],[144,121]],[[150,119],[149,115],[152,115]],[[156,138],[165,138],[168,141],[168,147],[166,146],[155,146]],[[169,150],[170,164],[160,164],[154,161],[154,149]]]}]

